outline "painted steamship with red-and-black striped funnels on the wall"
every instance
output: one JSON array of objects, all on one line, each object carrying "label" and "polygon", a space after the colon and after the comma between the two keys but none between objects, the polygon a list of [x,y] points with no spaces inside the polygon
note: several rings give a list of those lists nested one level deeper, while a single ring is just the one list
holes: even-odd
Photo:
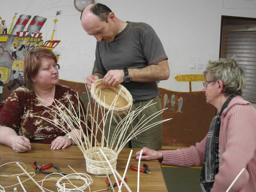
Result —
[{"label": "painted steamship with red-and-black striped funnels on the wall", "polygon": [[52,31],[52,38],[44,42],[40,30],[44,26],[46,18],[34,16],[27,30],[24,30],[31,16],[20,15],[13,27],[16,16],[17,13],[12,18],[12,24],[8,33],[0,34],[0,74],[4,84],[13,80],[12,71],[17,69],[17,66],[19,71],[23,71],[24,56],[28,50],[38,48],[53,50],[60,43],[60,40],[53,40],[55,24],[58,21],[56,18],[53,20],[54,29]]}]

